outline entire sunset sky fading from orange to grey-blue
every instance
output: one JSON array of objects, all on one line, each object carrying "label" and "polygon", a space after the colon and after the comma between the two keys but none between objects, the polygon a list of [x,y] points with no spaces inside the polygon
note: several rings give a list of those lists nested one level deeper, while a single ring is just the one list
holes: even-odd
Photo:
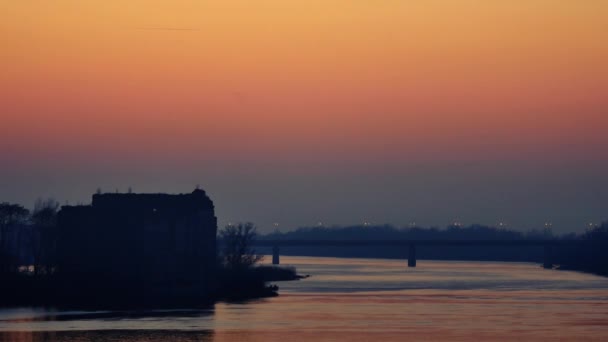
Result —
[{"label": "entire sunset sky fading from orange to grey-blue", "polygon": [[608,1],[0,0],[0,201],[220,224],[608,219]]}]

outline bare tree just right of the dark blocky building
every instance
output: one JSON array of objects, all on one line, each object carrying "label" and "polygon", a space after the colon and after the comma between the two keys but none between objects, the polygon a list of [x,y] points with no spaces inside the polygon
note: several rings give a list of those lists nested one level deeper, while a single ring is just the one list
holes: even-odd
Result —
[{"label": "bare tree just right of the dark blocky building", "polygon": [[247,269],[263,259],[252,248],[257,236],[253,223],[228,225],[220,231],[223,244],[222,256],[226,267],[231,269]]}]

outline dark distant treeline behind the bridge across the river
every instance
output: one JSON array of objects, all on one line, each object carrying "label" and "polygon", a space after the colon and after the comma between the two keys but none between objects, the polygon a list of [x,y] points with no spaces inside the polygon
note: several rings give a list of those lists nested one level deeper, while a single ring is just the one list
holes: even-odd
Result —
[{"label": "dark distant treeline behind the bridge across the river", "polygon": [[[483,225],[448,226],[446,228],[406,227],[391,225],[346,227],[302,227],[290,232],[265,234],[267,240],[587,240],[608,243],[608,222],[590,227],[581,234],[557,235],[551,229],[516,231],[502,227]],[[260,249],[270,253],[270,249]],[[553,260],[562,268],[578,269],[598,274],[608,274],[607,248],[554,247]],[[391,246],[366,247],[315,247],[294,246],[281,249],[284,255],[309,255],[361,258],[407,258],[407,248]],[[479,260],[479,261],[527,261],[542,262],[544,250],[536,246],[419,246],[419,259]]]}]

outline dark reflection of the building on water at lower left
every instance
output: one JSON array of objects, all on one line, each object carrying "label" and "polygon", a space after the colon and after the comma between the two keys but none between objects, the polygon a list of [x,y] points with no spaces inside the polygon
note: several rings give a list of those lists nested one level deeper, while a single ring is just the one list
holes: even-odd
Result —
[{"label": "dark reflection of the building on water at lower left", "polygon": [[[0,341],[213,341],[213,330],[201,330],[193,324],[211,318],[213,312],[213,307],[146,311],[4,310],[0,315],[2,326],[20,330],[0,331]],[[168,321],[175,329],[163,329]]]}]

